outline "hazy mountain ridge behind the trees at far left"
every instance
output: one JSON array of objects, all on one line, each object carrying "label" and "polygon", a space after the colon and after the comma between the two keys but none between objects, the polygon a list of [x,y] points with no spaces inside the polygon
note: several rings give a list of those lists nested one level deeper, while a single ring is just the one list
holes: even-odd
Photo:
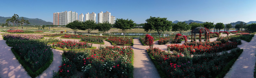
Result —
[{"label": "hazy mountain ridge behind the trees at far left", "polygon": [[[0,16],[0,23],[5,23],[7,19],[9,19],[11,17],[1,17]],[[21,19],[21,17],[19,17],[18,19]],[[28,25],[31,25],[31,26],[34,26],[34,25],[53,25],[52,22],[46,22],[42,19],[38,19],[38,18],[26,18],[24,17],[24,20],[28,20],[30,22],[30,24]]]}]

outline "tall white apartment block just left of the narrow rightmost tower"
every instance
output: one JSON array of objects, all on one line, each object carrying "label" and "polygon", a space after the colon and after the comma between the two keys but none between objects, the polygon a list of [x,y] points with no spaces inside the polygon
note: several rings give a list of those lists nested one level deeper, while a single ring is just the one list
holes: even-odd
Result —
[{"label": "tall white apartment block just left of the narrow rightmost tower", "polygon": [[98,13],[98,23],[109,22],[111,23],[111,13],[106,11],[105,13]]}]

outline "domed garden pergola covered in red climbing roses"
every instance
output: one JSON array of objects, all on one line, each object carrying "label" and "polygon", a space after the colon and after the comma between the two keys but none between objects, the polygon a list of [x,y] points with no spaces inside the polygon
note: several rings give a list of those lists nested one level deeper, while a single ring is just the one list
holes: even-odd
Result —
[{"label": "domed garden pergola covered in red climbing roses", "polygon": [[[205,27],[197,27],[191,31],[191,41],[196,41],[196,34],[199,33],[199,41],[201,41],[202,33],[204,33],[205,41],[209,40],[209,30]],[[194,39],[193,39],[194,36]]]}]

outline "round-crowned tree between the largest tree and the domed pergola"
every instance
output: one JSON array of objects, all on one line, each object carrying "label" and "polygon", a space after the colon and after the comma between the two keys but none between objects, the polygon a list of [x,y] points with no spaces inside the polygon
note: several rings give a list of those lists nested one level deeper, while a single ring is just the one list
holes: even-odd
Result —
[{"label": "round-crowned tree between the largest tree and the domed pergola", "polygon": [[172,26],[172,31],[179,31],[182,34],[184,31],[189,30],[191,27],[186,22],[178,22]]}]

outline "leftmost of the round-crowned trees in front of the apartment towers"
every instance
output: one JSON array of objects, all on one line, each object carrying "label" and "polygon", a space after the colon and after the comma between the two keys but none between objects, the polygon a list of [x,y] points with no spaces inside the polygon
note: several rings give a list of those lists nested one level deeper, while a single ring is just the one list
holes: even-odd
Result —
[{"label": "leftmost of the round-crowned trees in front of the apartment towers", "polygon": [[75,34],[78,31],[78,29],[81,28],[81,26],[82,26],[82,23],[78,20],[70,22],[66,25],[66,27],[72,29]]}]

